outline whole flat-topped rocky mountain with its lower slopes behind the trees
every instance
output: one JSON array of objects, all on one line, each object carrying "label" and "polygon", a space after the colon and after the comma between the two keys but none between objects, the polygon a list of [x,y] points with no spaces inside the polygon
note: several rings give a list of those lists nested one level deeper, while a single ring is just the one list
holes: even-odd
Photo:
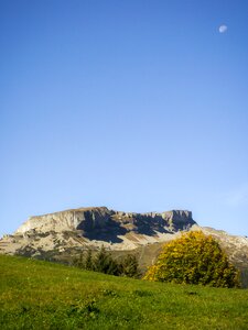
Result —
[{"label": "whole flat-topped rocky mountain with its lower slopes behind the trees", "polygon": [[72,262],[82,251],[104,245],[117,257],[136,254],[144,271],[165,242],[188,230],[212,234],[247,277],[248,239],[202,228],[186,210],[134,213],[91,207],[31,217],[13,234],[0,240],[0,253]]}]

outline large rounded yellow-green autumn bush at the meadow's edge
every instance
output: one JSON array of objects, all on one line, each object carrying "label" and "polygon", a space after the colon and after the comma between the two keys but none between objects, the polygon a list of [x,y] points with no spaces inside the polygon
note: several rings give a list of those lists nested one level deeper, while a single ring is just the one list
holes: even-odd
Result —
[{"label": "large rounded yellow-green autumn bush at the meadow's edge", "polygon": [[239,273],[213,237],[188,232],[164,245],[143,279],[238,287]]}]

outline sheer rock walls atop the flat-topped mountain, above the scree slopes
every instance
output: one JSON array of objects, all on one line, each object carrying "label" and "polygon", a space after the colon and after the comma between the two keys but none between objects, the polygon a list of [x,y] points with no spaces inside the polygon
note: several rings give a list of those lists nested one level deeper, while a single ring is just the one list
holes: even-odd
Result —
[{"label": "sheer rock walls atop the flat-topped mountain, above the scree slopes", "polygon": [[[139,221],[147,221],[148,226],[154,222],[166,227],[168,230],[173,230],[173,226],[182,229],[180,226],[191,226],[196,223],[192,219],[192,212],[187,210],[171,210],[164,212],[125,212],[108,209],[107,207],[87,207],[68,209],[42,216],[33,216],[28,219],[15,233],[24,233],[30,230],[42,231],[63,231],[63,230],[80,230],[90,228],[96,229],[108,224],[109,220],[115,222],[138,223]],[[164,221],[163,221],[164,220]],[[150,223],[149,223],[150,222]],[[87,229],[86,229],[87,230]]]}]

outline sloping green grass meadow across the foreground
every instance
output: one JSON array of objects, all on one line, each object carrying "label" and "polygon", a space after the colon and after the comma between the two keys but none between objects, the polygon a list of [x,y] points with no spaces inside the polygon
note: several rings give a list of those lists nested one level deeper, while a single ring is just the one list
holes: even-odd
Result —
[{"label": "sloping green grass meadow across the foreground", "polygon": [[248,329],[248,290],[149,283],[0,255],[0,329]]}]

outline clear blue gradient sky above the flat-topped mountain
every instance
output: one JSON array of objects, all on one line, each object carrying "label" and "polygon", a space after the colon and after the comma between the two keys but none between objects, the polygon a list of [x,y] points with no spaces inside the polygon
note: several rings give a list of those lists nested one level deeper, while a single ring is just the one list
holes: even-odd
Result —
[{"label": "clear blue gradient sky above the flat-topped mountain", "polygon": [[247,235],[248,1],[0,0],[0,234],[107,206]]}]

